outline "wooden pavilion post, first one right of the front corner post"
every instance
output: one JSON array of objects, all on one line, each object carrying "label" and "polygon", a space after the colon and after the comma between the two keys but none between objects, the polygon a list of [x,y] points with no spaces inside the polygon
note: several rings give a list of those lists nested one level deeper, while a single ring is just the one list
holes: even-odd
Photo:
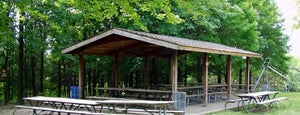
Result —
[{"label": "wooden pavilion post, first one right of the front corner post", "polygon": [[207,94],[208,94],[208,53],[204,53],[204,70],[203,70],[203,94],[204,94],[204,106],[207,107]]}]

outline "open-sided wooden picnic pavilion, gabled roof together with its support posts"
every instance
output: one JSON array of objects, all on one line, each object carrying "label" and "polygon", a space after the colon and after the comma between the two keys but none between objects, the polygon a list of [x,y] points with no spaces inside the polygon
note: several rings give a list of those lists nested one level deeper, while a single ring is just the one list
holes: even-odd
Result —
[{"label": "open-sided wooden picnic pavilion, gabled roof together with its support posts", "polygon": [[[186,38],[158,35],[121,28],[114,28],[72,45],[63,54],[77,54],[79,56],[79,87],[83,86],[84,55],[115,56],[116,74],[115,86],[119,80],[120,57],[154,57],[170,59],[170,84],[172,92],[177,92],[177,57],[188,52],[204,53],[203,95],[204,105],[208,103],[208,54],[228,55],[227,58],[227,96],[231,93],[231,56],[245,56],[246,58],[246,92],[249,92],[250,58],[261,58],[258,53],[233,48],[221,44],[191,40]],[[147,74],[145,79],[148,80]]]}]

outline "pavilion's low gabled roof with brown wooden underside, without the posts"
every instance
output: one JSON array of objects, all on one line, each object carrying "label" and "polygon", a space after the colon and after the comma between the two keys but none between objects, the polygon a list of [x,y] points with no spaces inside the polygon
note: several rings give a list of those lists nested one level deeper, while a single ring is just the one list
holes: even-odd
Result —
[{"label": "pavilion's low gabled roof with brown wooden underside, without the posts", "polygon": [[199,40],[114,28],[70,46],[62,53],[165,57],[174,51],[261,58],[258,53]]}]

